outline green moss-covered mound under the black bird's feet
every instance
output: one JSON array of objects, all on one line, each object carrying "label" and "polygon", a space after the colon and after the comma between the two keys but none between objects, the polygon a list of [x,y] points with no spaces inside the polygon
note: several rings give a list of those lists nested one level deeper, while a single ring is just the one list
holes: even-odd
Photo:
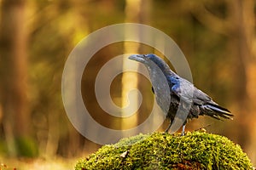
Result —
[{"label": "green moss-covered mound under the black bird's feet", "polygon": [[104,145],[80,160],[85,169],[253,169],[247,155],[230,139],[210,133],[150,133]]}]

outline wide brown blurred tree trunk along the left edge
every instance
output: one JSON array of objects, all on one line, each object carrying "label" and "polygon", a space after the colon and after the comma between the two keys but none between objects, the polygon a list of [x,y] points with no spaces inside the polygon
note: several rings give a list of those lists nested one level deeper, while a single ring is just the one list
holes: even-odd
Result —
[{"label": "wide brown blurred tree trunk along the left edge", "polygon": [[26,139],[31,134],[26,96],[26,0],[3,0],[1,3],[0,103],[3,108],[3,135],[10,156],[31,156],[26,148],[30,147],[26,145]]}]

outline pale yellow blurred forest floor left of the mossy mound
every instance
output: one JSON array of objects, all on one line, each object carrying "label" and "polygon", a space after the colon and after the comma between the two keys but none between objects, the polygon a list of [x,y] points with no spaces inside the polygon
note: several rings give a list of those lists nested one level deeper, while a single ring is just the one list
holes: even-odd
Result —
[{"label": "pale yellow blurred forest floor left of the mossy mound", "polygon": [[0,156],[0,170],[72,170],[79,158],[8,159]]}]

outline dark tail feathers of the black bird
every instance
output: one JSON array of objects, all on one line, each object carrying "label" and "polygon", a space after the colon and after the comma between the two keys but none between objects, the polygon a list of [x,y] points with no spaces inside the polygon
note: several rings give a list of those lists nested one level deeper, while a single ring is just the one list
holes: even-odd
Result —
[{"label": "dark tail feathers of the black bird", "polygon": [[212,116],[218,120],[221,120],[221,118],[232,119],[233,116],[229,110],[216,104],[208,103],[203,108],[206,110],[204,111],[205,115]]}]

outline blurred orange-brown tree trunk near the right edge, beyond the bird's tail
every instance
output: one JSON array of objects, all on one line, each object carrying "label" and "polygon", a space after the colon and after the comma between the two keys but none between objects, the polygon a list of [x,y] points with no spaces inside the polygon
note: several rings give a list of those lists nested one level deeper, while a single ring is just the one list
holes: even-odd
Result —
[{"label": "blurred orange-brown tree trunk near the right edge, beyond the bird's tail", "polygon": [[[230,9],[230,54],[234,57],[234,74],[236,78],[233,79],[234,99],[236,103],[236,138],[241,144],[247,154],[252,157],[255,155],[253,149],[256,147],[254,133],[251,129],[255,127],[255,111],[252,111],[250,106],[249,95],[251,89],[247,88],[249,82],[248,67],[250,61],[253,61],[252,53],[252,38],[255,34],[254,30],[254,1],[236,0],[227,2]],[[256,108],[254,108],[256,109]],[[256,157],[252,157],[256,159]]]}]

